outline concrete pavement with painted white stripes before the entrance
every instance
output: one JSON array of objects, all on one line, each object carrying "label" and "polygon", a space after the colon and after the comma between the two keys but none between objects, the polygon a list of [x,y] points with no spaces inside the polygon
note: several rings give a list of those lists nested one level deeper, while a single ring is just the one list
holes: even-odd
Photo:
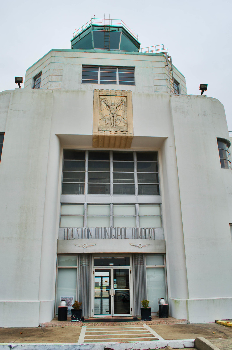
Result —
[{"label": "concrete pavement with painted white stripes before the entrance", "polygon": [[[75,327],[66,327],[58,323],[56,327],[0,328],[0,349],[7,350],[14,347],[15,350],[105,348],[122,350],[158,349],[157,346],[165,348],[167,345],[175,349],[186,349],[193,348],[196,337],[208,339],[220,350],[232,349],[232,328],[217,323],[143,324],[143,322],[107,326],[75,323]],[[51,344],[54,345],[51,347]]]}]

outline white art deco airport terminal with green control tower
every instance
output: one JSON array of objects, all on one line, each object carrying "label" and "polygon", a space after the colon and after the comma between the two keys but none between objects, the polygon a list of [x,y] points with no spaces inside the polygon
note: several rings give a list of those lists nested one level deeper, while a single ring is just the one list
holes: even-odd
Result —
[{"label": "white art deco airport terminal with green control tower", "polygon": [[156,315],[162,297],[191,323],[231,317],[224,107],[188,95],[162,45],[91,20],[0,93],[2,144],[1,327],[51,321],[61,299],[85,318],[143,299]]}]

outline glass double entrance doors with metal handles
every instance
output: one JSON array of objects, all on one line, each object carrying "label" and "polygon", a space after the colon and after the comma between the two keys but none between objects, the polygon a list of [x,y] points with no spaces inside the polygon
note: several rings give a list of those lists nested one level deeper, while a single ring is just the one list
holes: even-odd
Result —
[{"label": "glass double entrance doors with metal handles", "polygon": [[94,316],[125,316],[130,311],[130,269],[95,268]]}]

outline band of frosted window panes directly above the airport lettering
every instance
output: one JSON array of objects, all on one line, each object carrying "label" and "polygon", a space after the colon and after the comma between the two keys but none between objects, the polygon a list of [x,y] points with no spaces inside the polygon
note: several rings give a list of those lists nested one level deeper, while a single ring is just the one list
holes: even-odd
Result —
[{"label": "band of frosted window panes directly above the airport lettering", "polygon": [[161,228],[161,205],[63,203],[60,227]]}]

